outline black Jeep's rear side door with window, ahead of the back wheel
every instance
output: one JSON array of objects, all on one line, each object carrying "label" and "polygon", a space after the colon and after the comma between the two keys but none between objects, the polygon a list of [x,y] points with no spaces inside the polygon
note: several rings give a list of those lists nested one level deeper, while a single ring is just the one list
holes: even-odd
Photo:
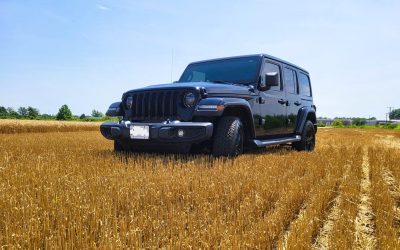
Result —
[{"label": "black Jeep's rear side door with window, ahead of the back wheel", "polygon": [[287,100],[287,130],[288,134],[294,133],[297,114],[301,108],[302,101],[299,95],[299,86],[296,70],[288,65],[283,68],[284,88]]}]

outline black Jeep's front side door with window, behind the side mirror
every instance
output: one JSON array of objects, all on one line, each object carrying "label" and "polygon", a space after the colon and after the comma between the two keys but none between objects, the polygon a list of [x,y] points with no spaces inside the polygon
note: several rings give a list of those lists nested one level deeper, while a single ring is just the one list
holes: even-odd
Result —
[{"label": "black Jeep's front side door with window, behind the side mirror", "polygon": [[286,97],[282,84],[282,72],[279,63],[266,59],[261,70],[261,81],[267,73],[278,73],[279,86],[259,92],[260,127],[257,137],[268,138],[286,134]]}]

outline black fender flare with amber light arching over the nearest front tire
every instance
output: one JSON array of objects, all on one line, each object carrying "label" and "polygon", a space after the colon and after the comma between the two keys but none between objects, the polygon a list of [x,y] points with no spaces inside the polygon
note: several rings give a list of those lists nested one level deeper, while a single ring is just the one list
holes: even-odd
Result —
[{"label": "black fender flare with amber light arching over the nearest front tire", "polygon": [[[207,109],[202,110],[201,107],[218,107],[215,109]],[[202,116],[202,117],[221,117],[227,113],[235,113],[237,111],[240,112],[240,117],[244,119],[244,122],[247,127],[247,132],[251,138],[255,138],[255,128],[254,128],[254,119],[253,112],[251,110],[250,103],[243,98],[206,98],[202,99],[193,113],[193,116]]]}]

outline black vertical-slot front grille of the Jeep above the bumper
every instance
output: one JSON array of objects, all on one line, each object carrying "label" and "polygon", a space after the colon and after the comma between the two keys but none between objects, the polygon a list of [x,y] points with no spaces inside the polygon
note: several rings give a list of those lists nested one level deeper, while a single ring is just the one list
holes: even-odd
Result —
[{"label": "black vertical-slot front grille of the Jeep above the bumper", "polygon": [[157,90],[129,93],[132,96],[131,120],[159,121],[178,118],[178,103],[183,90]]}]

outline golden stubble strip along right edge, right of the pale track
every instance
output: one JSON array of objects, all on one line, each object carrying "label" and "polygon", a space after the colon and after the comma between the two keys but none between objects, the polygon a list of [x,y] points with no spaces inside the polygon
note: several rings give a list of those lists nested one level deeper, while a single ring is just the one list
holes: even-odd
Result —
[{"label": "golden stubble strip along right edge, right of the pale track", "polygon": [[[376,235],[378,247],[381,249],[400,249],[400,218],[399,218],[399,197],[398,194],[391,193],[391,186],[388,182],[387,166],[390,168],[399,167],[398,161],[393,151],[387,151],[386,148],[370,148],[369,157],[371,164],[371,182],[372,182],[372,206],[376,218]],[[397,160],[397,164],[396,164]],[[386,178],[385,178],[386,176]],[[395,191],[395,190],[393,190]],[[396,197],[397,196],[397,197]]]}]

